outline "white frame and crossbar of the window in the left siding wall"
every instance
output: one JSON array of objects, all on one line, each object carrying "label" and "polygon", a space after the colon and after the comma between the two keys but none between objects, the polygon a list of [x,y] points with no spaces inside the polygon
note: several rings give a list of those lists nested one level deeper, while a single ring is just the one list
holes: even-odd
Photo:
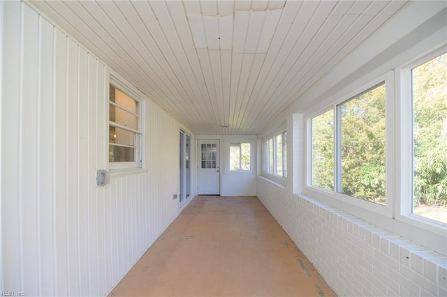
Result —
[{"label": "white frame and crossbar of the window in the left siding wall", "polygon": [[[135,157],[133,162],[110,162],[108,159],[109,155],[109,139],[107,137],[107,163],[108,168],[110,172],[119,172],[123,170],[129,170],[129,169],[143,169],[144,168],[144,153],[143,153],[143,147],[145,143],[145,137],[144,137],[144,127],[145,127],[145,96],[140,93],[137,89],[135,89],[131,84],[126,82],[122,77],[117,75],[117,73],[113,73],[110,71],[108,75],[108,84],[107,88],[110,89],[110,86],[114,86],[115,89],[118,89],[122,93],[126,94],[126,96],[129,96],[132,100],[135,100],[138,104],[138,125],[137,129],[129,129],[129,131],[135,133]],[[106,114],[106,121],[107,121],[107,130],[110,129],[110,125],[113,125],[117,128],[121,128],[121,125],[119,123],[115,123],[113,121],[110,121],[110,92],[106,92],[107,96],[107,114]],[[124,109],[123,109],[124,110]],[[128,130],[125,129],[124,130]],[[108,135],[108,133],[107,133]]]}]

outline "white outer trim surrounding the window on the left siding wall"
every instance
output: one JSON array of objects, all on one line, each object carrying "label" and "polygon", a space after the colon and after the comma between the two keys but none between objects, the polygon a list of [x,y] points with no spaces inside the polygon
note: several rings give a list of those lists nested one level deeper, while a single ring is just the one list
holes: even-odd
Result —
[{"label": "white outer trim surrounding the window on the left siding wall", "polygon": [[[115,86],[117,89],[119,89],[120,91],[122,91],[123,93],[126,93],[127,96],[131,97],[133,100],[138,102],[139,105],[139,112],[140,114],[138,115],[139,118],[139,126],[137,130],[135,130],[135,132],[137,132],[138,134],[136,135],[136,139],[135,139],[135,162],[109,162],[108,160],[108,150],[109,150],[109,140],[108,137],[106,137],[106,148],[107,148],[107,153],[106,153],[106,159],[107,159],[107,164],[108,164],[108,169],[111,173],[112,176],[117,176],[119,175],[120,172],[135,172],[135,170],[138,172],[139,170],[144,170],[143,168],[145,168],[145,153],[144,153],[144,148],[145,148],[145,109],[146,109],[146,97],[143,93],[141,93],[140,91],[138,91],[138,89],[136,89],[134,86],[132,86],[129,82],[126,82],[126,80],[121,77],[120,75],[118,75],[117,73],[115,73],[112,70],[109,70],[108,73],[108,82],[106,84],[107,86],[107,91],[105,92],[107,94],[106,98],[107,98],[107,108],[106,108],[106,119],[107,119],[107,124],[106,124],[106,131],[109,130],[109,125],[110,125],[110,98],[109,98],[109,91],[108,89],[110,88],[110,84],[112,86]],[[115,125],[115,124],[114,124]],[[106,133],[108,135],[108,132]],[[129,171],[129,169],[133,169],[131,171]]]}]

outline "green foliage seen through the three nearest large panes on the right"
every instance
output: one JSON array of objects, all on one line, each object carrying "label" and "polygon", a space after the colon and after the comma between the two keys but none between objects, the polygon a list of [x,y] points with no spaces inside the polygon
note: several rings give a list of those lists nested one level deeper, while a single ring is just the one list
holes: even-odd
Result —
[{"label": "green foliage seen through the three nearest large panes on the right", "polygon": [[[385,204],[385,84],[338,106],[342,193]],[[447,206],[447,54],[413,69],[414,206]],[[411,149],[411,148],[409,148]],[[312,185],[334,189],[334,114],[312,119]]]}]

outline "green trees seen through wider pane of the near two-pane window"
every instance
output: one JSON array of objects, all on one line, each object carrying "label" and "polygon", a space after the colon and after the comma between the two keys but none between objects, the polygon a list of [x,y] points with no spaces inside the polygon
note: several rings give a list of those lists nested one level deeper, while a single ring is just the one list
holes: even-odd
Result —
[{"label": "green trees seen through wider pane of the near two-pane window", "polygon": [[340,108],[342,192],[385,204],[385,84]]}]

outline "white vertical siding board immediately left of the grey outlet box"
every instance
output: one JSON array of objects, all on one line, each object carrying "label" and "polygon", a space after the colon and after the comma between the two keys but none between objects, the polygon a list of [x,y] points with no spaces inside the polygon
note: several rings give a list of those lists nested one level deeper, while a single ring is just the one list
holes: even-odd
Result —
[{"label": "white vertical siding board immediately left of the grey outlet box", "polygon": [[97,227],[97,218],[96,218],[96,184],[92,181],[96,178],[96,105],[98,102],[97,98],[97,90],[98,90],[98,75],[97,75],[97,62],[94,57],[89,55],[89,105],[88,105],[88,180],[89,188],[88,188],[88,264],[89,264],[89,295],[90,296],[98,296],[98,266],[96,261],[96,254],[98,250],[98,241],[96,238],[96,227]]}]

